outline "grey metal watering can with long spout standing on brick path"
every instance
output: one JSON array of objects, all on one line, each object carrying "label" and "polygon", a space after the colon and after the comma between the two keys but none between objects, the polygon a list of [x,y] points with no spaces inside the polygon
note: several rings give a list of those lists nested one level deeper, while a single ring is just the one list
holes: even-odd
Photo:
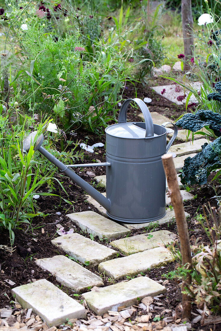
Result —
[{"label": "grey metal watering can with long spout standing on brick path", "polygon": [[[140,107],[145,123],[126,121],[132,101]],[[174,134],[166,146],[167,124],[174,126]],[[168,152],[177,136],[176,125],[153,124],[146,104],[135,98],[124,101],[118,123],[108,126],[105,132],[104,163],[64,165],[41,146],[43,134],[38,137],[35,150],[103,206],[110,218],[124,223],[146,223],[162,218],[166,214],[166,177],[161,156]],[[29,151],[36,134],[34,131],[25,138],[24,150]],[[77,166],[106,166],[106,197],[71,169]]]}]

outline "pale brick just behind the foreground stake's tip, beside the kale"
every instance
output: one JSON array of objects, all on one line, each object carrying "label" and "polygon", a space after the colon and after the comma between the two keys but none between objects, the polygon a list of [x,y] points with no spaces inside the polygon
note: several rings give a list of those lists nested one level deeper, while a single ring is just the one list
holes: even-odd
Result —
[{"label": "pale brick just behind the foreground stake's tip, beside the kale", "polygon": [[177,156],[188,155],[192,153],[198,153],[202,150],[202,145],[208,143],[206,139],[196,139],[185,143],[172,145],[168,153],[175,153]]}]

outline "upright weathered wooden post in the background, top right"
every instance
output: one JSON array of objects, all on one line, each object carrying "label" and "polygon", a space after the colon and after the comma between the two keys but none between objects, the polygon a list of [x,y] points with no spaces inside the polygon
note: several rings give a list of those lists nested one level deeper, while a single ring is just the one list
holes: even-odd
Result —
[{"label": "upright weathered wooden post in the background, top right", "polygon": [[190,65],[186,60],[190,61],[193,56],[193,18],[192,18],[192,6],[191,0],[181,1],[181,14],[182,14],[182,28],[184,37],[184,70],[188,70]]}]

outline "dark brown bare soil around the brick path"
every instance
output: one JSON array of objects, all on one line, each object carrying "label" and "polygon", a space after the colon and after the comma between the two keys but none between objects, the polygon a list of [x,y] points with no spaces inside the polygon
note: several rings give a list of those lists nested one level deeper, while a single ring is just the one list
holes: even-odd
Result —
[{"label": "dark brown bare soil around the brick path", "polygon": [[[165,81],[163,82],[165,83]],[[152,92],[151,88],[143,88],[141,84],[136,85],[136,92],[138,98],[150,97],[152,102],[148,104],[150,112],[158,112],[163,114],[171,119],[176,119],[185,113],[185,107],[171,105],[169,101],[165,98],[159,96],[158,94]],[[135,90],[133,85],[128,85],[124,91],[123,99],[135,97]],[[131,106],[128,108],[127,118],[128,121],[140,121],[138,117],[139,111],[136,108]],[[97,136],[92,132],[79,130],[77,132],[76,138],[81,139],[82,141],[88,141],[89,145],[93,145],[97,142],[103,142],[105,144],[105,135]],[[89,138],[89,139],[88,139]],[[72,138],[73,140],[73,138]],[[177,141],[179,143],[179,141]],[[80,148],[78,148],[80,150]],[[92,163],[94,159],[98,159],[101,162],[105,162],[105,146],[99,147],[95,150],[95,153],[89,153],[85,151],[83,162],[79,163]],[[92,185],[94,183],[94,175],[88,174],[88,171],[95,173],[96,175],[105,174],[105,167],[88,167],[88,168],[75,168],[77,174],[79,174],[84,180]],[[57,181],[54,181],[53,186],[54,190],[52,193],[58,192],[61,195],[59,196],[40,196],[36,200],[39,211],[44,213],[44,217],[37,216],[33,218],[31,226],[27,224],[22,224],[16,229],[15,232],[15,241],[14,241],[14,251],[11,254],[8,250],[10,249],[10,240],[8,232],[3,230],[0,234],[0,308],[8,307],[10,305],[11,297],[11,288],[23,285],[35,280],[45,278],[52,282],[53,284],[60,286],[56,279],[50,275],[48,272],[44,272],[35,264],[35,260],[40,258],[53,257],[57,254],[63,254],[59,248],[55,248],[51,244],[51,240],[57,236],[57,223],[60,223],[64,226],[65,230],[69,228],[74,228],[74,231],[83,234],[84,236],[89,237],[89,234],[84,233],[78,226],[73,225],[68,217],[65,216],[66,213],[94,211],[99,213],[99,211],[93,206],[90,205],[85,198],[85,192],[83,189],[74,184],[69,178],[63,176],[60,173],[56,173],[55,176],[58,180],[62,182],[63,187],[65,188],[67,194],[59,188]],[[188,219],[188,229],[189,235],[192,238],[192,243],[194,244],[194,238],[201,237],[200,242],[208,244],[208,238],[206,237],[204,231],[200,228],[199,224],[196,224],[194,221],[195,213],[202,213],[202,206],[210,203],[211,206],[217,207],[217,201],[214,198],[216,187],[217,195],[221,192],[221,185],[219,182],[211,183],[209,178],[208,184],[201,187],[193,186],[191,187],[191,193],[196,196],[194,200],[184,202],[184,209],[187,213],[190,214]],[[97,188],[100,192],[105,190],[102,188]],[[47,192],[47,185],[41,187],[41,192]],[[63,199],[67,199],[73,203],[73,207],[65,202]],[[176,233],[177,227],[176,222],[170,222],[158,226],[154,230],[166,229],[171,232]],[[142,233],[141,230],[133,230],[131,236]],[[103,245],[109,245],[109,242],[99,241],[98,237],[95,237],[94,240],[102,243]],[[1,246],[3,245],[3,246]],[[5,246],[6,245],[6,246]],[[7,248],[8,247],[8,248]],[[97,268],[92,268],[85,266],[87,269],[93,271],[96,274],[98,273]],[[167,274],[168,271],[173,270],[175,263],[170,263],[165,267],[159,269],[153,269],[148,271],[146,274],[148,277],[158,281],[165,282],[167,278],[164,274]],[[14,282],[14,285],[10,285],[7,281],[11,280]],[[104,277],[105,286],[115,283],[114,280],[110,280],[110,277]],[[181,289],[180,285],[173,280],[166,282],[167,293],[159,298],[158,303],[161,303],[165,309],[169,309],[169,312],[165,312],[164,316],[171,316],[171,311],[176,310],[181,302]],[[62,288],[64,289],[64,288]],[[64,289],[70,296],[76,299],[74,294],[76,292],[70,289]],[[79,297],[80,300],[80,297]],[[196,311],[196,306],[193,305],[193,313],[198,314]],[[141,308],[138,308],[141,310]],[[179,309],[178,309],[179,310]],[[176,310],[176,312],[178,311]],[[161,310],[153,310],[153,315],[159,314]],[[179,315],[179,314],[178,314]],[[194,324],[193,330],[220,330],[220,324],[210,324],[208,326],[200,326],[199,324]]]}]

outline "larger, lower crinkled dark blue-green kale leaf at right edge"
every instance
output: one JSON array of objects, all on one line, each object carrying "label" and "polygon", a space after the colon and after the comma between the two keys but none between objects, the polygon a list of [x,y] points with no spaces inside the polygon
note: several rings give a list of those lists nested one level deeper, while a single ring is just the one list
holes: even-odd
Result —
[{"label": "larger, lower crinkled dark blue-green kale leaf at right edge", "polygon": [[180,174],[181,183],[187,185],[206,183],[212,170],[221,167],[221,137],[210,144],[202,146],[202,152],[193,158],[184,160],[183,172]]}]

